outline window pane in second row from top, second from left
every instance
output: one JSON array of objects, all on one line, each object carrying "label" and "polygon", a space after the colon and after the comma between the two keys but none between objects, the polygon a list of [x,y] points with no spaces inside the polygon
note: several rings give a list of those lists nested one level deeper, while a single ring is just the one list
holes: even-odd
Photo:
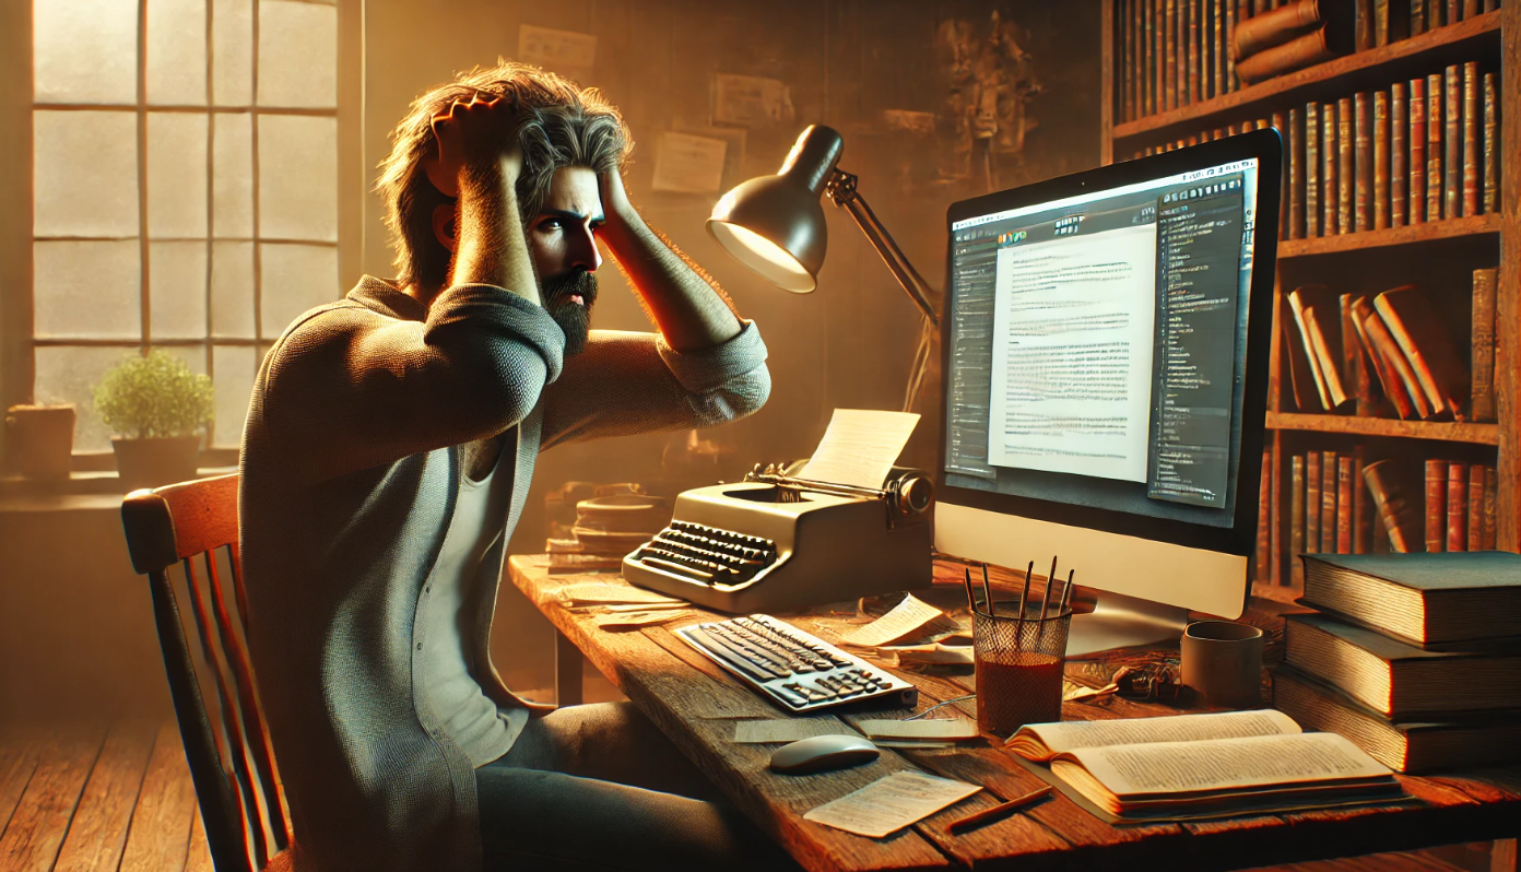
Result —
[{"label": "window pane in second row from top, second from left", "polygon": [[148,236],[205,236],[207,116],[148,113]]}]

